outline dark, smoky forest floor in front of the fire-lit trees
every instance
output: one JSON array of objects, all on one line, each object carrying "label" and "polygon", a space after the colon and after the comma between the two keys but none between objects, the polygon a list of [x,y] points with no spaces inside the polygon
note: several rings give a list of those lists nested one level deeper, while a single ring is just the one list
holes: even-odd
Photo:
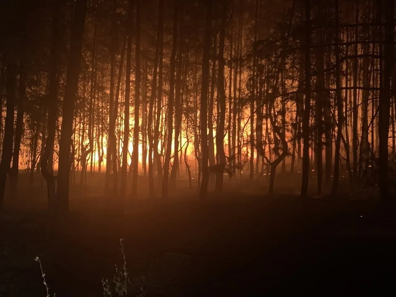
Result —
[{"label": "dark, smoky forest floor in front of the fire-lit trees", "polygon": [[129,296],[140,287],[150,297],[396,294],[396,220],[375,202],[270,200],[230,187],[205,202],[185,190],[124,208],[76,191],[56,226],[45,199],[19,194],[0,217],[0,296],[46,296],[36,256],[51,295],[102,296],[102,278],[112,283],[114,264],[122,268],[120,238]]}]

